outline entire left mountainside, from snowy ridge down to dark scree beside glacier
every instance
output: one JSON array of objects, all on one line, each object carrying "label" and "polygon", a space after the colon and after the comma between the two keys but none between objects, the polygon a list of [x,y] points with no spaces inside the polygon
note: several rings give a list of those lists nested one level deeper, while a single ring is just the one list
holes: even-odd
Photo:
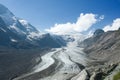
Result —
[{"label": "entire left mountainside, from snowy ridge down to dark scree beside glacier", "polygon": [[31,71],[50,48],[65,46],[62,40],[41,33],[0,4],[0,80],[12,80]]}]

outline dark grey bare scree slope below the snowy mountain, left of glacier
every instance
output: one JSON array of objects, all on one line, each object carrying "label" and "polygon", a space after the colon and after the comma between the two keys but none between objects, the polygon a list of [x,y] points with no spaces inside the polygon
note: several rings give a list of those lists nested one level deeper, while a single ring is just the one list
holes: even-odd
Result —
[{"label": "dark grey bare scree slope below the snowy mountain, left of glacier", "polygon": [[0,80],[13,78],[30,71],[49,49],[14,49],[0,47]]}]

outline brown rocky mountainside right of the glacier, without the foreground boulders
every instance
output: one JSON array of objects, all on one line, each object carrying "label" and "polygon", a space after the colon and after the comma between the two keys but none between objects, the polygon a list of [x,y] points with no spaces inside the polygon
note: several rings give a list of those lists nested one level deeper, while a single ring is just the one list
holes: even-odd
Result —
[{"label": "brown rocky mountainside right of the glacier, without the foreground boulders", "polygon": [[120,30],[104,32],[96,30],[94,35],[80,44],[89,56],[117,63],[120,60]]}]

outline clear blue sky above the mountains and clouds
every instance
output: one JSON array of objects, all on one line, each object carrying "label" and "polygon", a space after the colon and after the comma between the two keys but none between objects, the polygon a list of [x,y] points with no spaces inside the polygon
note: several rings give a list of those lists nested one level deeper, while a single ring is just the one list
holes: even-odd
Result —
[{"label": "clear blue sky above the mountains and clouds", "polygon": [[74,23],[81,13],[104,15],[94,28],[112,24],[120,17],[120,0],[0,0],[17,17],[44,30],[54,24]]}]

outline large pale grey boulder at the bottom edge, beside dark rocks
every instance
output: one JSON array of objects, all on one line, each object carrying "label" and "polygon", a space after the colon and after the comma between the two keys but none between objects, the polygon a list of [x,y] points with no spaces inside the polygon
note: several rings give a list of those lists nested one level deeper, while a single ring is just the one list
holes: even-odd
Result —
[{"label": "large pale grey boulder at the bottom edge, beside dark rocks", "polygon": [[82,70],[77,76],[73,77],[71,80],[88,80],[89,76],[87,71]]}]

